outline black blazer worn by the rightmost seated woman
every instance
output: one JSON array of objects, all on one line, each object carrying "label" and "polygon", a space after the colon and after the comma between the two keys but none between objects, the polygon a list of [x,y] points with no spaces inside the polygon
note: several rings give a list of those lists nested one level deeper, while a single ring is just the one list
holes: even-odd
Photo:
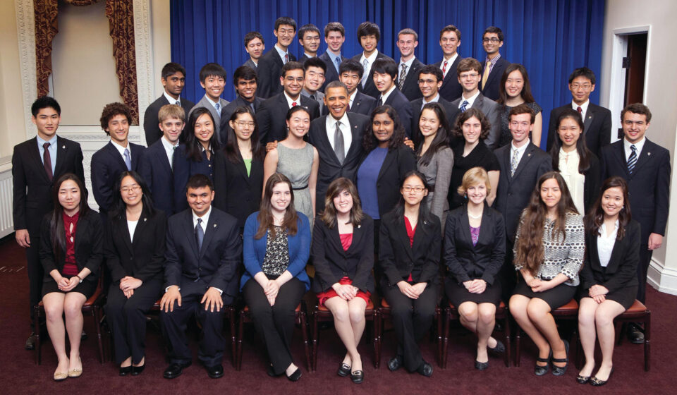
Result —
[{"label": "black blazer worn by the rightmost seated woman", "polygon": [[[595,284],[604,286],[609,292],[627,286],[637,286],[637,265],[640,261],[640,224],[632,220],[626,226],[626,234],[621,240],[616,239],[611,259],[606,268],[599,263],[597,236],[585,232],[585,261],[580,269],[580,286],[586,290]],[[585,292],[587,296],[587,292]]]}]

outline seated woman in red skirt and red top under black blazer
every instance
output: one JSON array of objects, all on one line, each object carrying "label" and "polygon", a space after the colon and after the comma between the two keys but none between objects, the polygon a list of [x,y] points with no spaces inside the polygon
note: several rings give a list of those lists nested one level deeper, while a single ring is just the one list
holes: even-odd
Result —
[{"label": "seated woman in red skirt and red top under black blazer", "polygon": [[327,188],[324,213],[312,230],[312,291],[334,315],[334,326],[348,353],[339,376],[364,381],[358,344],[365,331],[365,308],[374,291],[374,220],[362,212],[358,190],[348,178]]}]

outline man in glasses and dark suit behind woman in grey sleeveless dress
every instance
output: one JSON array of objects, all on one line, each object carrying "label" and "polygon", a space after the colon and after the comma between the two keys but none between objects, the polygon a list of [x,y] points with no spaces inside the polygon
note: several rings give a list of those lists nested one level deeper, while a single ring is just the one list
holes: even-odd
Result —
[{"label": "man in glasses and dark suit behind woman in grey sleeveless dress", "polygon": [[309,97],[301,96],[304,80],[301,63],[289,62],[282,67],[279,83],[283,92],[263,102],[256,113],[261,142],[264,144],[287,137],[287,111],[291,107],[300,105],[308,109],[311,121],[319,116],[319,104]]}]

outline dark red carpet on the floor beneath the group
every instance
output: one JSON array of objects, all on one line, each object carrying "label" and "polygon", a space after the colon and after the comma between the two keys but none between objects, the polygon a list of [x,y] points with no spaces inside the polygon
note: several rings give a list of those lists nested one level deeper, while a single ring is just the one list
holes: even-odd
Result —
[{"label": "dark red carpet on the floor beneath the group", "polygon": [[[307,372],[303,342],[297,330],[294,338],[295,362],[303,369],[297,383],[284,377],[271,378],[265,372],[264,351],[251,324],[245,335],[242,371],[236,372],[225,361],[226,374],[221,379],[209,379],[197,363],[184,370],[177,379],[162,378],[166,367],[162,338],[149,327],[147,334],[146,370],[138,377],[118,377],[112,362],[101,365],[97,355],[96,332],[90,317],[85,317],[85,330],[90,335],[83,342],[84,373],[78,379],[53,382],[56,356],[49,341],[42,347],[42,365],[35,365],[34,351],[25,351],[23,344],[29,332],[25,305],[28,303],[28,277],[23,251],[13,239],[0,243],[0,339],[4,350],[0,382],[4,394],[676,394],[677,358],[673,330],[677,327],[677,297],[659,293],[649,287],[647,305],[652,310],[652,367],[643,370],[643,346],[624,341],[616,347],[614,374],[609,384],[593,388],[575,382],[578,370],[570,365],[566,375],[554,377],[533,374],[535,348],[528,339],[523,341],[521,367],[506,367],[501,358],[492,358],[488,370],[479,372],[472,366],[475,338],[463,329],[451,332],[449,362],[442,370],[434,364],[431,378],[410,375],[401,370],[389,372],[387,360],[394,353],[394,334],[384,334],[382,365],[374,369],[372,345],[360,346],[365,363],[365,382],[353,384],[347,377],[338,377],[336,368],[343,357],[341,341],[333,328],[321,332],[317,372]],[[197,344],[193,336],[193,350]],[[435,361],[436,345],[422,343],[424,358]],[[229,358],[229,348],[226,356]],[[571,351],[571,359],[575,351]],[[197,360],[195,357],[194,360]],[[601,361],[601,356],[598,357]]]}]

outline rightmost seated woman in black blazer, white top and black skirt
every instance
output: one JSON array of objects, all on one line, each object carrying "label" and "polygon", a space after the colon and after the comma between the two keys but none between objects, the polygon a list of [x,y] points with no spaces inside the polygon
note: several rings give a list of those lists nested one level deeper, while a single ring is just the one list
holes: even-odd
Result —
[{"label": "rightmost seated woman in black blazer, white top and black skirt", "polygon": [[[640,260],[640,224],[632,219],[628,185],[611,177],[585,218],[585,263],[580,272],[578,332],[585,365],[576,378],[581,384],[606,384],[613,370],[614,318],[635,302]],[[594,339],[599,338],[602,365],[594,369]]]}]

